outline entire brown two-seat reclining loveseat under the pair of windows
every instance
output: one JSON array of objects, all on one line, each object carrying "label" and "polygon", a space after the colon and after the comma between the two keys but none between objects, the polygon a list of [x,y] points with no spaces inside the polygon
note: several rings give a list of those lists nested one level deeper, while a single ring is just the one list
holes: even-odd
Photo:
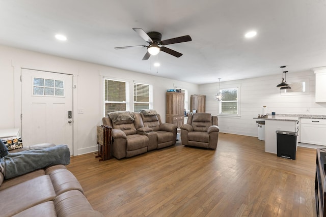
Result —
[{"label": "entire brown two-seat reclining loveseat under the pair of windows", "polygon": [[157,113],[143,117],[139,112],[119,111],[102,118],[103,125],[112,127],[115,158],[129,158],[176,143],[175,125],[161,123]]}]

